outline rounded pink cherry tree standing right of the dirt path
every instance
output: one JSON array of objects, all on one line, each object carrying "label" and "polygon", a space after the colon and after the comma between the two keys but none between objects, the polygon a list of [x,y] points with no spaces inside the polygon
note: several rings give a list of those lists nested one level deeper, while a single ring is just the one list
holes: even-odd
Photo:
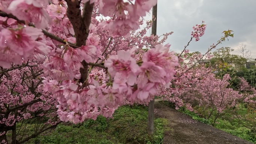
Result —
[{"label": "rounded pink cherry tree standing right of the dirt path", "polygon": [[183,93],[183,101],[187,102],[188,110],[201,114],[205,119],[216,119],[227,108],[234,107],[236,101],[242,98],[239,91],[228,88],[230,76],[226,74],[222,79],[217,79],[214,74],[207,74],[204,78],[192,84]]}]

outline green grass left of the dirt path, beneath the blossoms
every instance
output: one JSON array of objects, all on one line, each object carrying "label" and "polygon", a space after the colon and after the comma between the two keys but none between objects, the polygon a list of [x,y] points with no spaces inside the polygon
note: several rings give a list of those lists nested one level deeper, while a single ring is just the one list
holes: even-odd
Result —
[{"label": "green grass left of the dirt path, beneath the blossoms", "polygon": [[155,133],[147,135],[147,107],[122,106],[113,119],[99,116],[83,123],[61,124],[27,144],[162,144],[167,119],[155,119]]}]

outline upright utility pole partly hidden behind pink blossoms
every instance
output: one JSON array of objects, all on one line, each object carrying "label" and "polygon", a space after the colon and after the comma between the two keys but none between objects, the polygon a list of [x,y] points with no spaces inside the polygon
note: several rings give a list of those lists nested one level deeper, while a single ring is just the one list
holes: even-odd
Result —
[{"label": "upright utility pole partly hidden behind pink blossoms", "polygon": [[[156,15],[157,15],[157,3],[152,9],[152,34],[156,35]],[[155,19],[155,21],[154,21]],[[154,134],[154,111],[155,110],[155,99],[149,102],[149,108],[147,112],[147,134]]]}]

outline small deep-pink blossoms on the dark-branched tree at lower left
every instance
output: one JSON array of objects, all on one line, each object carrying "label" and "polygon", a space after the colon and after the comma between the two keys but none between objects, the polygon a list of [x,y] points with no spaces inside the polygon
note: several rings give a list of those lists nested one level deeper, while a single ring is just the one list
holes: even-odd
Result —
[{"label": "small deep-pink blossoms on the dark-branched tree at lower left", "polygon": [[[33,65],[33,63],[29,63]],[[32,71],[32,72],[31,72]],[[43,91],[40,77],[33,77],[40,70],[37,67],[24,67],[9,71],[7,76],[2,76],[0,81],[0,123],[6,126],[13,126],[22,119],[31,118],[31,114],[40,114],[41,110],[47,111],[56,107],[56,100]],[[26,75],[24,75],[26,74]],[[31,83],[33,80],[33,83]],[[39,92],[42,95],[39,95]],[[45,95],[45,96],[44,96]],[[46,100],[47,99],[47,100]],[[44,102],[42,102],[44,100]],[[31,103],[26,105],[27,103]],[[13,108],[14,111],[10,111]],[[25,109],[24,109],[25,108]],[[39,112],[41,111],[41,112]],[[53,113],[54,115],[54,113]],[[51,120],[49,120],[50,122]]]}]

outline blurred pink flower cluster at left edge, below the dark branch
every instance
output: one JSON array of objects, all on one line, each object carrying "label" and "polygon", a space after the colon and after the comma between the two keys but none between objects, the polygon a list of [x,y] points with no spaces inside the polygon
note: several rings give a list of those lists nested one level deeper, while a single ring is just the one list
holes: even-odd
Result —
[{"label": "blurred pink flower cluster at left edge, below the dark branch", "polygon": [[[0,62],[3,68],[10,68],[12,62],[21,64],[22,61],[35,58],[45,59],[45,54],[51,47],[42,41],[45,39],[42,30],[33,27],[7,27],[1,29]],[[37,39],[42,39],[38,40]]]}]

